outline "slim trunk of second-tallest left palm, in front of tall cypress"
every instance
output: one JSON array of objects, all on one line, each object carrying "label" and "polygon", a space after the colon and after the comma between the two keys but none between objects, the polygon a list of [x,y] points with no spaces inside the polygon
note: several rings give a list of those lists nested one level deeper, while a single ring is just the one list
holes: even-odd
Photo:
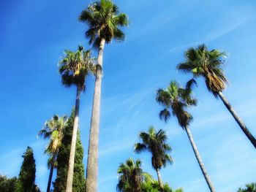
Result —
[{"label": "slim trunk of second-tallest left palm, in front of tall cypress", "polygon": [[79,105],[80,105],[80,85],[77,86],[77,95],[75,99],[75,119],[72,131],[72,140],[69,155],[69,169],[67,171],[67,185],[66,192],[72,192],[73,175],[74,175],[74,164],[75,164],[75,145],[78,136],[78,116],[79,116]]}]

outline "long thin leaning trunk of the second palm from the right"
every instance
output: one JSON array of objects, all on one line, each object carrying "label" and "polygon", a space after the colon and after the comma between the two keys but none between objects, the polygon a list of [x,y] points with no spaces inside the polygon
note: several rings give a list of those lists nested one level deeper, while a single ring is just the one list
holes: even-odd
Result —
[{"label": "long thin leaning trunk of the second palm from the right", "polygon": [[204,166],[202,158],[200,157],[199,151],[197,149],[197,145],[195,145],[195,141],[192,137],[192,134],[191,134],[188,127],[185,127],[185,130],[187,132],[187,136],[189,137],[189,142],[192,145],[193,151],[195,153],[195,157],[197,158],[197,162],[198,162],[198,164],[200,166],[200,169],[203,173],[203,177],[205,177],[205,179],[206,179],[206,183],[208,185],[208,188],[210,189],[211,192],[215,192],[214,185],[211,183],[211,179],[208,176],[208,173],[206,172],[206,167]]}]

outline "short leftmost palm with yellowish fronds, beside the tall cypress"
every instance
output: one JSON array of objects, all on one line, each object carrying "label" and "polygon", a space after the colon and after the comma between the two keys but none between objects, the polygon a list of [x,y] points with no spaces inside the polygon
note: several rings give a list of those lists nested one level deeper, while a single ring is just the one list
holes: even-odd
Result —
[{"label": "short leftmost palm with yellowish fronds, beside the tall cypress", "polygon": [[44,139],[50,139],[45,153],[49,155],[48,169],[50,169],[47,192],[50,192],[50,184],[53,177],[53,169],[56,167],[56,158],[61,146],[63,131],[67,125],[67,116],[59,118],[58,115],[53,115],[53,118],[45,122],[45,126],[39,131],[39,136]]}]

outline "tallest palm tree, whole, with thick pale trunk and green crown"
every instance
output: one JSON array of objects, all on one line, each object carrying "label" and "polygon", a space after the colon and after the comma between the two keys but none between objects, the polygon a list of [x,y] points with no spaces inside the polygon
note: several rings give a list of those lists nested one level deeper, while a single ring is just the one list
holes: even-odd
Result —
[{"label": "tallest palm tree, whole, with thick pale trunk and green crown", "polygon": [[124,40],[124,33],[119,26],[128,26],[128,18],[119,13],[116,4],[110,0],[96,1],[81,12],[79,20],[89,25],[86,37],[89,43],[98,48],[97,69],[94,85],[94,100],[91,112],[88,164],[86,171],[86,191],[97,191],[98,177],[98,143],[99,143],[99,108],[102,84],[102,58],[105,43],[112,39]]}]

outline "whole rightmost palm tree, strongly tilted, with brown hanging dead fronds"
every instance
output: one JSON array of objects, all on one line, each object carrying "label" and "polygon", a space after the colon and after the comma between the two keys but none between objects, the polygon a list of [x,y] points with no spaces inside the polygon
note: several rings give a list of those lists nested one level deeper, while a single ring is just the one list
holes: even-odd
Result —
[{"label": "whole rightmost palm tree, strongly tilted, with brown hanging dead fronds", "polygon": [[[238,116],[231,104],[227,101],[222,91],[225,89],[227,77],[225,77],[222,65],[225,63],[225,53],[219,50],[208,50],[206,45],[200,45],[197,48],[190,48],[185,53],[186,61],[178,64],[177,68],[183,72],[190,72],[193,77],[203,77],[206,81],[208,91],[214,94],[216,98],[222,99],[227,110],[230,111],[233,118],[246,134],[246,137],[256,148],[256,139],[252,136],[243,120]],[[192,79],[194,81],[194,79]],[[190,82],[192,82],[190,81]]]}]

